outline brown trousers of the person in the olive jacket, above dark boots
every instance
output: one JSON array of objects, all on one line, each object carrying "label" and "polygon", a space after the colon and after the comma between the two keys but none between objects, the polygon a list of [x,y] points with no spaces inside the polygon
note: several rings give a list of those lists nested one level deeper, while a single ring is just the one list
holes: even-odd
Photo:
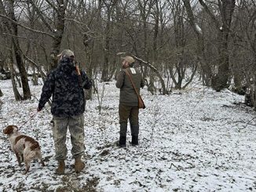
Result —
[{"label": "brown trousers of the person in the olive jacket, above dark boots", "polygon": [[139,107],[127,106],[119,103],[120,136],[126,136],[127,121],[130,121],[130,132],[132,136],[139,134]]}]

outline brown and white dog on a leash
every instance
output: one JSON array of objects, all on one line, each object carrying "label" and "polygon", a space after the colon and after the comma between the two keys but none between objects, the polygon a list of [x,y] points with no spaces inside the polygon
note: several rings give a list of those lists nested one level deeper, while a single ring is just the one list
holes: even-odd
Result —
[{"label": "brown and white dog on a leash", "polygon": [[24,174],[28,172],[30,163],[34,159],[38,159],[42,166],[45,166],[42,161],[39,143],[35,139],[30,136],[22,135],[16,125],[7,126],[3,130],[3,133],[9,137],[9,143],[11,144],[13,152],[16,154],[19,165],[21,166],[21,161],[24,161],[26,165]]}]

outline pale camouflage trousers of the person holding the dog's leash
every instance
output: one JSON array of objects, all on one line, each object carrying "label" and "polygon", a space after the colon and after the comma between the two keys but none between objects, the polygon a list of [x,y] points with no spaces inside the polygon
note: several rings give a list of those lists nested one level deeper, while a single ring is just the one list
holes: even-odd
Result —
[{"label": "pale camouflage trousers of the person holding the dog's leash", "polygon": [[53,116],[53,139],[55,145],[56,159],[67,158],[68,149],[66,146],[67,131],[71,135],[71,154],[73,158],[79,158],[85,154],[84,146],[84,116],[83,114],[69,118],[58,118]]}]

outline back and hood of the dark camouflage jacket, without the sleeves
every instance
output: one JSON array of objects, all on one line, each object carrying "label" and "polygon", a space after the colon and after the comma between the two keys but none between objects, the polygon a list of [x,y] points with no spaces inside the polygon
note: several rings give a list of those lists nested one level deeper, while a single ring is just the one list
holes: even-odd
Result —
[{"label": "back and hood of the dark camouflage jacket, without the sleeves", "polygon": [[64,58],[53,71],[55,80],[52,113],[57,117],[82,114],[85,110],[85,98],[75,66]]}]

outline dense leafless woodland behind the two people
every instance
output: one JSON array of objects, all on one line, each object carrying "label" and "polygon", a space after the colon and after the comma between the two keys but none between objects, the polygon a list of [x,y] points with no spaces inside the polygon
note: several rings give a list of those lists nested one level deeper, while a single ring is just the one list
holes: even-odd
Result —
[{"label": "dense leafless woodland behind the two people", "polygon": [[36,85],[72,49],[91,78],[111,81],[131,54],[152,93],[184,89],[199,73],[216,91],[247,92],[256,108],[254,0],[0,0],[0,12],[0,72],[16,100],[31,98],[28,74]]}]

